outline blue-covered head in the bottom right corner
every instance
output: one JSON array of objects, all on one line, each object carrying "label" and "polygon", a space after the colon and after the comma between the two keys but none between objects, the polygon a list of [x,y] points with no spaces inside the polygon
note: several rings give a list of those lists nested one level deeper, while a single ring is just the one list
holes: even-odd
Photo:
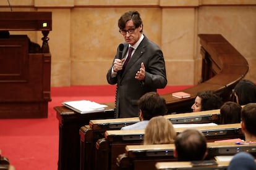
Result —
[{"label": "blue-covered head in the bottom right corner", "polygon": [[254,156],[248,152],[239,152],[234,155],[229,163],[228,170],[255,170]]}]

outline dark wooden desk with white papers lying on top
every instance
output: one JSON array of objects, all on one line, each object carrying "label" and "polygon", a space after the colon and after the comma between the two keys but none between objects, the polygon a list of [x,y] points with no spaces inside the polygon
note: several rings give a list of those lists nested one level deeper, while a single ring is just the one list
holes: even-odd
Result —
[{"label": "dark wooden desk with white papers lying on top", "polygon": [[54,107],[59,120],[59,170],[79,169],[80,167],[80,136],[79,129],[89,124],[90,119],[114,118],[111,107],[106,111],[80,114],[66,107]]}]

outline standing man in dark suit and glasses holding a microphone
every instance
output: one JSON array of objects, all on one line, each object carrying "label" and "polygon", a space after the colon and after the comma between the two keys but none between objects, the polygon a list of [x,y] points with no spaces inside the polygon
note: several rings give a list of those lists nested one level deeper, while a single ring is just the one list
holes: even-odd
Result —
[{"label": "standing man in dark suit and glasses holding a microphone", "polygon": [[139,12],[126,12],[119,18],[118,26],[126,42],[119,45],[106,77],[109,84],[117,84],[116,117],[136,117],[137,100],[166,86],[165,62],[160,47],[143,35]]}]

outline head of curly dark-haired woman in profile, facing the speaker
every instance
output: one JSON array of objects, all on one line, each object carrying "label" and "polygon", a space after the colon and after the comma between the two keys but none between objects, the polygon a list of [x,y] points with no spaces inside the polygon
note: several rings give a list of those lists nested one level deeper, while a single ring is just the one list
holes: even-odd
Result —
[{"label": "head of curly dark-haired woman in profile, facing the speaker", "polygon": [[220,96],[213,91],[203,91],[198,92],[197,97],[195,97],[195,103],[192,105],[192,110],[195,111],[205,111],[219,109],[223,101]]}]

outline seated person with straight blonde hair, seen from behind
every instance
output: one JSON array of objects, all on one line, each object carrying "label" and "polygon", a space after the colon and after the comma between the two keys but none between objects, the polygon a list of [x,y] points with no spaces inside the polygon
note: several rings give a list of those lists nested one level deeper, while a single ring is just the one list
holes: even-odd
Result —
[{"label": "seated person with straight blonde hair, seen from behind", "polygon": [[173,144],[176,131],[173,124],[164,116],[151,118],[145,129],[144,145]]}]

